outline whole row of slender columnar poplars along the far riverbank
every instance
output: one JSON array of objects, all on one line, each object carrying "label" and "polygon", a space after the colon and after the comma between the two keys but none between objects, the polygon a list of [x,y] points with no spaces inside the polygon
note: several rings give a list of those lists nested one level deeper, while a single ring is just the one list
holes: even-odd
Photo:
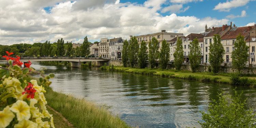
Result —
[{"label": "whole row of slender columnar poplars along the far riverbank", "polygon": [[[241,33],[237,36],[234,42],[234,51],[232,51],[232,66],[239,72],[244,68],[248,61],[248,48],[246,45],[243,35]],[[219,34],[215,34],[213,43],[209,46],[209,63],[211,65],[213,73],[218,73],[221,64],[223,63],[225,49],[221,43],[221,37]],[[182,40],[180,38],[176,41],[176,49],[173,54],[174,56],[174,67],[176,70],[181,70],[184,62],[184,51]],[[199,71],[201,64],[201,48],[199,46],[198,39],[194,39],[190,42],[190,54],[188,55],[190,61],[190,67],[193,72]],[[167,69],[168,63],[170,62],[170,48],[166,40],[162,41],[162,46],[159,50],[158,40],[153,37],[148,43],[148,48],[145,41],[141,42],[139,46],[136,37],[132,37],[130,42],[126,40],[123,45],[122,51],[122,62],[124,67],[139,67],[145,68],[149,65],[150,68],[159,67],[161,69]]]}]

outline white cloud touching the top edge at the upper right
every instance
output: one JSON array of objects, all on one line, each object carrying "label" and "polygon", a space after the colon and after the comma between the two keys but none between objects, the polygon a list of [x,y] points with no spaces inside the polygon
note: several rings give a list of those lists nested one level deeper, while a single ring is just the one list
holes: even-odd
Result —
[{"label": "white cloud touching the top edge at the upper right", "polygon": [[224,3],[219,2],[213,10],[229,12],[232,8],[246,5],[250,0],[230,0]]}]

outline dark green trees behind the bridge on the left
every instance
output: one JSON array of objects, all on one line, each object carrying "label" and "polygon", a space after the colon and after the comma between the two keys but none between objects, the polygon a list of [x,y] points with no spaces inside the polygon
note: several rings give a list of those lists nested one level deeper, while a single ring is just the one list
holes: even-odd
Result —
[{"label": "dark green trees behind the bridge on the left", "polygon": [[72,44],[72,41],[64,43],[64,39],[61,38],[54,43],[45,41],[34,44],[0,45],[0,55],[6,55],[5,51],[10,51],[15,56],[89,56],[91,42],[88,41],[87,36],[80,47],[73,48]]}]

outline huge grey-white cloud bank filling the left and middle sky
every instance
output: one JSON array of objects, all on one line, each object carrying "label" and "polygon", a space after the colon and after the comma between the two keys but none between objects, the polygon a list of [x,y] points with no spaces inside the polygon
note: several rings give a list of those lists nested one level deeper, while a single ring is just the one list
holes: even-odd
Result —
[{"label": "huge grey-white cloud bank filling the left and middle sky", "polygon": [[[159,32],[161,28],[168,32],[188,34],[204,30],[208,26],[227,24],[228,19],[195,16],[162,16],[158,13],[166,0],[149,0],[144,4],[120,3],[119,0],[80,1],[67,0],[12,0],[0,1],[0,44],[56,42],[79,42],[87,35],[89,40],[106,37],[122,37]],[[57,4],[58,3],[58,4]],[[90,3],[90,7],[88,5]],[[83,4],[81,6],[79,4]],[[182,4],[177,4],[182,6]],[[50,13],[43,8],[51,6]],[[189,8],[166,11],[186,11]]]}]

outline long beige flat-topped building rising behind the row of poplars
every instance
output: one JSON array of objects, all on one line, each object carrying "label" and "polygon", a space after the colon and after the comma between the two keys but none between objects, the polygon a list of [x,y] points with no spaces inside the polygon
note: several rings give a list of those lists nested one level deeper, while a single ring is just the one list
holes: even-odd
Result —
[{"label": "long beige flat-topped building rising behind the row of poplars", "polygon": [[135,37],[137,38],[139,45],[141,44],[142,41],[145,41],[147,47],[148,47],[148,43],[152,40],[153,37],[155,37],[158,40],[158,47],[160,49],[162,46],[163,40],[166,40],[168,42],[175,37],[181,37],[181,36],[183,36],[183,33],[172,33],[172,32],[166,32],[166,30],[162,30],[161,32],[158,32],[158,33],[138,35]]}]

